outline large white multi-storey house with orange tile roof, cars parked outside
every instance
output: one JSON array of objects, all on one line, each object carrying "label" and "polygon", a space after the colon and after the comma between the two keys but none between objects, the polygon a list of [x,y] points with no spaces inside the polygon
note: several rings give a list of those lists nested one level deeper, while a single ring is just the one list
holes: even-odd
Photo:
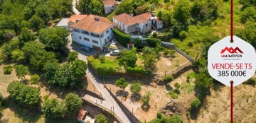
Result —
[{"label": "large white multi-storey house with orange tile roof, cars parked outside", "polygon": [[72,40],[93,49],[103,49],[112,40],[113,23],[107,18],[89,15],[71,25]]}]

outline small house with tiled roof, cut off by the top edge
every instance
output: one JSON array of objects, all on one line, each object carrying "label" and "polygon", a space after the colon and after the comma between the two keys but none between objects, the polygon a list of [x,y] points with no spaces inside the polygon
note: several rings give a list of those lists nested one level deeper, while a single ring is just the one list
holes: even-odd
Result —
[{"label": "small house with tiled roof, cut off by the top edge", "polygon": [[117,7],[118,2],[115,0],[105,0],[102,1],[102,4],[104,6],[105,14],[107,14],[114,11],[114,9]]}]

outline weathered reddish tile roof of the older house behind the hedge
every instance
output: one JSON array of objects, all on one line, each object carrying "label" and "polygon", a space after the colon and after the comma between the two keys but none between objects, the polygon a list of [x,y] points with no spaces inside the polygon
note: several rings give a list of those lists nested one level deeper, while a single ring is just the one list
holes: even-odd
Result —
[{"label": "weathered reddish tile roof of the older house behind the hedge", "polygon": [[122,13],[120,15],[114,16],[113,18],[124,25],[133,25],[136,23],[146,23],[151,18],[151,13],[142,13],[138,16],[129,16],[128,13]]}]

